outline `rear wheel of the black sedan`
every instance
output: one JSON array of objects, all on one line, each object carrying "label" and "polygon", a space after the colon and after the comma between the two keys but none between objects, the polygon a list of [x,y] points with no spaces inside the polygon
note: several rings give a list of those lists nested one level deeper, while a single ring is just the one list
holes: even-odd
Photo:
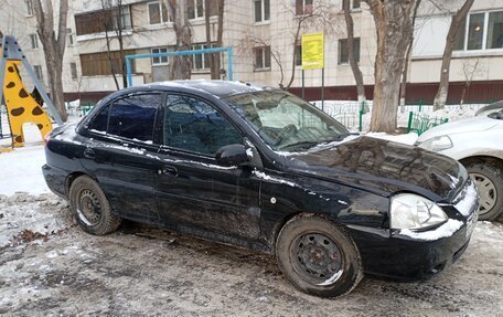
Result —
[{"label": "rear wheel of the black sedan", "polygon": [[90,234],[104,235],[120,225],[121,219],[111,211],[105,193],[87,176],[81,176],[72,182],[69,207],[78,225]]}]

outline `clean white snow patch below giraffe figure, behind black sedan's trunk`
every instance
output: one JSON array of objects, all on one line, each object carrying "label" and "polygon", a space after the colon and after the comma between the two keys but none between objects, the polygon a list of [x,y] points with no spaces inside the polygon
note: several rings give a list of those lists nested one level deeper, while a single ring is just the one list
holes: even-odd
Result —
[{"label": "clean white snow patch below giraffe figure, behind black sedan's trunk", "polygon": [[0,154],[0,194],[50,192],[42,175],[44,163],[44,147],[41,145]]}]

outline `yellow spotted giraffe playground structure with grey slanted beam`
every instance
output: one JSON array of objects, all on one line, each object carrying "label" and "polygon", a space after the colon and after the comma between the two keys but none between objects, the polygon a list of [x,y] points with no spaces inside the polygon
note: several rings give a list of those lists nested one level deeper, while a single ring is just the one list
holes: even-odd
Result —
[{"label": "yellow spotted giraffe playground structure with grey slanted beam", "polygon": [[[28,93],[24,87],[19,71],[20,66],[26,71],[56,123],[62,124],[63,121],[14,36],[4,36],[1,50],[0,102],[4,99],[7,106],[12,147],[22,147],[24,144],[23,125],[25,123],[33,123],[39,127],[41,139],[52,130],[52,124],[42,108],[42,103],[38,102],[34,94]],[[2,128],[2,134],[4,134],[4,127]]]}]

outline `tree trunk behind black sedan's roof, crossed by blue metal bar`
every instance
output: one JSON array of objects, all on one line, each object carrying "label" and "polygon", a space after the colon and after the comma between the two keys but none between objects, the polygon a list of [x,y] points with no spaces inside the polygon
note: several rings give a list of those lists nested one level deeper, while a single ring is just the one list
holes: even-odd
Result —
[{"label": "tree trunk behind black sedan's roof, crossed by blue metal bar", "polygon": [[[171,15],[173,17],[173,30],[176,36],[176,51],[189,51],[192,45],[192,30],[186,15],[185,0],[165,0]],[[171,80],[190,80],[192,62],[190,55],[173,57],[171,66]]]}]

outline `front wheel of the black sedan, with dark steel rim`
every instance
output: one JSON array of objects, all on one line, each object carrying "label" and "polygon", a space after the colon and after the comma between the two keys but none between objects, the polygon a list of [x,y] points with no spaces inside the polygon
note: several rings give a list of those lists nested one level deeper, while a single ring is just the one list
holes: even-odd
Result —
[{"label": "front wheel of the black sedan, with dark steel rim", "polygon": [[318,215],[298,215],[285,224],[276,258],[293,286],[320,297],[345,295],[363,278],[354,241],[342,226]]}]

